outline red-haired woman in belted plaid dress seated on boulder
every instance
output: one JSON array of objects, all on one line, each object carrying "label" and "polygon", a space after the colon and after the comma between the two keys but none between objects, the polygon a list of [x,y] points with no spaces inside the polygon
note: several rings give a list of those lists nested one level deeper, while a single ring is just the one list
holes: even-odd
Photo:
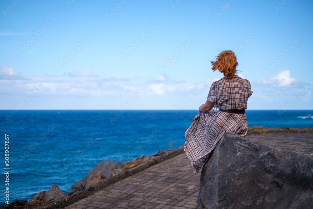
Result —
[{"label": "red-haired woman in belted plaid dress seated on boulder", "polygon": [[[196,175],[224,133],[232,132],[241,136],[248,133],[247,101],[252,91],[250,82],[237,75],[237,59],[233,51],[222,51],[212,70],[219,70],[224,77],[212,83],[207,101],[199,107],[199,114],[185,133],[184,150]],[[218,107],[215,112],[212,108]]]}]

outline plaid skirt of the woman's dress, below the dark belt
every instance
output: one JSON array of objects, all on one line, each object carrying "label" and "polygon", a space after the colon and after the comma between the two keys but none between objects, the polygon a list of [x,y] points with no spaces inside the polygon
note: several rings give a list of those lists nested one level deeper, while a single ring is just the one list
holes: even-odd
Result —
[{"label": "plaid skirt of the woman's dress, below the dark belt", "polygon": [[193,175],[196,175],[224,133],[245,136],[248,133],[248,124],[246,114],[215,112],[213,109],[201,112],[193,118],[185,133],[184,150],[193,167]]}]

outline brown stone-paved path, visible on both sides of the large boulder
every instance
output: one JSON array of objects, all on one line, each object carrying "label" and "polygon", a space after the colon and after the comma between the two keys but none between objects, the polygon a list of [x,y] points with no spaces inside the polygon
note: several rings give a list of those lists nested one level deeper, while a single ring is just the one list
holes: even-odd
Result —
[{"label": "brown stone-paved path, visible on both sides of the large boulder", "polygon": [[[247,138],[286,151],[313,153],[313,134],[267,134]],[[65,208],[196,208],[200,175],[201,172],[193,175],[187,155],[180,154]]]}]

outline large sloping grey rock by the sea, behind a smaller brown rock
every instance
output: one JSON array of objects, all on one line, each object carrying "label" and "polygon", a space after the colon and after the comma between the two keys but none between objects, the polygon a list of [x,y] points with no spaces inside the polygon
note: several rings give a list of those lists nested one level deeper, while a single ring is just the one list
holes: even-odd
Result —
[{"label": "large sloping grey rock by the sea, behind a smaller brown rock", "polygon": [[74,194],[76,191],[82,191],[86,189],[86,183],[90,175],[96,171],[102,171],[105,177],[110,178],[110,173],[117,169],[117,164],[112,160],[101,161],[96,167],[94,167],[83,179],[77,181],[69,190],[69,196]]}]

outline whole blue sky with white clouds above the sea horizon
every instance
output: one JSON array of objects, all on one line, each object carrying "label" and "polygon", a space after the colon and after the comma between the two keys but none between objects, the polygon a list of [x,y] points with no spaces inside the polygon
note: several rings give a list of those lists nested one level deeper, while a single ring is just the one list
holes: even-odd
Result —
[{"label": "whole blue sky with white clouds above the sea horizon", "polygon": [[198,109],[223,77],[210,64],[222,50],[252,85],[248,109],[313,108],[312,1],[0,8],[0,109]]}]

